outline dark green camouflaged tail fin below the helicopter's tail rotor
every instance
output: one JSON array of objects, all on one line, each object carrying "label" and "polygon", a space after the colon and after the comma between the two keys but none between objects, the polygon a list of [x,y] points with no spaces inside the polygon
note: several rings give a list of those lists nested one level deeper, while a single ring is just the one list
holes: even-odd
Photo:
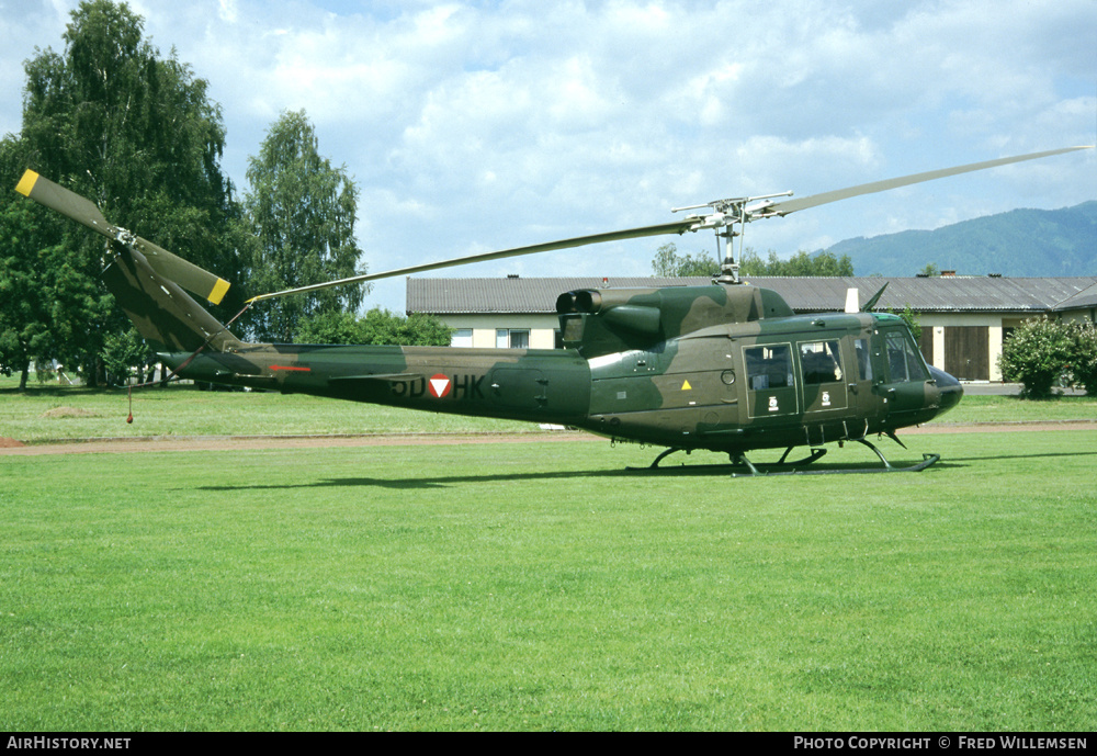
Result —
[{"label": "dark green camouflaged tail fin below the helicopter's tail rotor", "polygon": [[137,331],[157,351],[230,351],[244,346],[173,281],[157,273],[135,249],[123,249],[103,282]]}]

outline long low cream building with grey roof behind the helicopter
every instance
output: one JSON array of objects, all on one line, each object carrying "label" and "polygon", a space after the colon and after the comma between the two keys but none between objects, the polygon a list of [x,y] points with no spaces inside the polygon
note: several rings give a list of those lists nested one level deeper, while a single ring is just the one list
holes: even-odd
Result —
[{"label": "long low cream building with grey roof behind the helicopter", "polygon": [[[1097,321],[1097,277],[1010,279],[751,278],[778,292],[798,313],[840,312],[846,291],[866,302],[885,283],[877,309],[909,307],[921,326],[927,361],[968,381],[1000,381],[998,356],[1009,331],[1045,315]],[[407,312],[437,315],[456,329],[461,347],[559,347],[556,297],[576,289],[712,285],[709,279],[545,278],[407,279]]]}]

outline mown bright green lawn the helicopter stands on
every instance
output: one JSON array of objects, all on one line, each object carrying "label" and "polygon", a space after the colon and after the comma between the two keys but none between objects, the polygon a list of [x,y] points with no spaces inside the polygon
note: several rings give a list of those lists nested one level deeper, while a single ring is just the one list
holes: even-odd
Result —
[{"label": "mown bright green lawn the helicopter stands on", "polygon": [[0,456],[0,729],[1090,730],[1097,431],[907,442]]}]

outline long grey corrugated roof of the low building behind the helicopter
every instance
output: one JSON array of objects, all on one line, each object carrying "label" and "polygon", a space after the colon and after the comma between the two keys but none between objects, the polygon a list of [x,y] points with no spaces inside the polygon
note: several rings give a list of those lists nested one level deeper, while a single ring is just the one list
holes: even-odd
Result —
[{"label": "long grey corrugated roof of the low building behind the helicopter", "polygon": [[[841,311],[846,290],[857,289],[867,302],[887,290],[878,308],[918,313],[1048,313],[1097,306],[1097,278],[1010,279],[941,278],[772,278],[746,277],[772,289],[796,312]],[[407,279],[407,312],[436,315],[489,313],[551,314],[556,297],[576,289],[654,289],[712,285],[708,278],[506,278]]]}]

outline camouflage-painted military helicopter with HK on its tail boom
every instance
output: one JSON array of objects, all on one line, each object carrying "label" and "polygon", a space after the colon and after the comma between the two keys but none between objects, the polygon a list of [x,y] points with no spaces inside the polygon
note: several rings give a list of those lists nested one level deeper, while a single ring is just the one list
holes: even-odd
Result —
[{"label": "camouflage-painted military helicopter with HK on its tail boom", "polygon": [[[773,471],[799,472],[824,444],[857,441],[893,467],[869,440],[926,422],[954,407],[959,381],[928,365],[909,329],[850,296],[845,313],[796,315],[773,291],[739,281],[734,237],[747,223],[860,194],[1049,157],[1070,147],[861,184],[800,200],[791,192],[676,208],[704,211],[671,223],[473,255],[263,294],[256,302],[439,268],[584,245],[713,229],[724,246],[708,286],[597,289],[556,302],[564,349],[474,349],[248,343],[183,290],[214,304],[228,282],[131,232],[99,207],[27,171],[16,191],[102,234],[115,255],[103,280],[173,376],[304,393],[430,411],[574,426],[671,452],[727,453],[758,474],[746,452],[785,449]],[[717,241],[719,244],[719,241]],[[235,318],[234,318],[235,320]],[[228,325],[231,325],[229,320]],[[792,449],[808,456],[787,462]],[[867,472],[856,471],[828,472]]]}]

